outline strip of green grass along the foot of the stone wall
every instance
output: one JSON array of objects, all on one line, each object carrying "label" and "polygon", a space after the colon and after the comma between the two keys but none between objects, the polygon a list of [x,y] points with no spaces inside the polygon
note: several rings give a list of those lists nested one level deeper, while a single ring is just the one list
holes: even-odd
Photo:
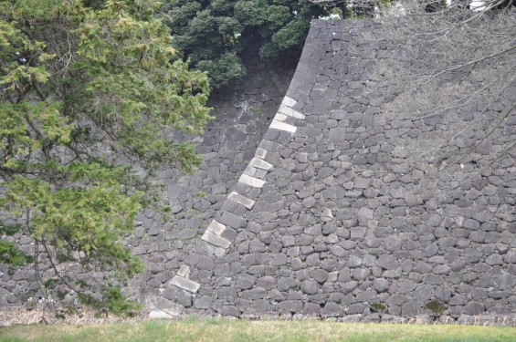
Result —
[{"label": "strip of green grass along the foot of the stone wall", "polygon": [[142,321],[77,326],[10,326],[0,341],[516,341],[516,328],[353,324],[322,321]]}]

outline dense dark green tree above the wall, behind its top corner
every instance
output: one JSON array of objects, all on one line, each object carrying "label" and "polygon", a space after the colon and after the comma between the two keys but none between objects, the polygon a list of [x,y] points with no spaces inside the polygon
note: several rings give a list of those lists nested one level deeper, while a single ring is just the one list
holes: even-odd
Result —
[{"label": "dense dark green tree above the wall, behind its top corner", "polygon": [[207,71],[213,88],[246,75],[239,54],[255,45],[259,56],[274,59],[301,47],[311,18],[346,11],[345,1],[312,4],[304,0],[168,0],[163,19],[173,46],[193,67]]}]

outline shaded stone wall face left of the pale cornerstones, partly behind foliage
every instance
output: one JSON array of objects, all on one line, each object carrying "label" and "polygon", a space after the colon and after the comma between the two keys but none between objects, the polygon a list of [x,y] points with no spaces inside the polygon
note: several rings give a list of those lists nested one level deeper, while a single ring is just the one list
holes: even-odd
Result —
[{"label": "shaded stone wall face left of the pale cornerstones, partly behind foliage", "polygon": [[[134,234],[127,239],[132,252],[147,265],[147,272],[133,279],[128,288],[133,298],[144,303],[153,302],[170,283],[178,260],[183,260],[195,246],[231,192],[239,173],[254,156],[290,85],[300,57],[300,51],[292,51],[279,61],[264,63],[256,57],[256,51],[247,51],[247,54],[247,77],[211,94],[208,106],[213,108],[211,115],[215,119],[208,124],[205,134],[196,138],[174,137],[176,140],[194,140],[198,153],[204,154],[205,162],[193,175],[174,170],[159,173],[165,183],[163,201],[172,206],[173,221],[163,223],[155,212],[143,212],[136,218]],[[34,253],[30,237],[18,235],[14,241],[26,253]],[[54,273],[42,258],[39,272],[46,280]],[[82,276],[80,267],[63,266],[71,274]],[[46,295],[37,285],[34,267],[13,272],[0,264],[0,307],[34,307],[44,298]],[[69,299],[73,300],[73,297]]]}]

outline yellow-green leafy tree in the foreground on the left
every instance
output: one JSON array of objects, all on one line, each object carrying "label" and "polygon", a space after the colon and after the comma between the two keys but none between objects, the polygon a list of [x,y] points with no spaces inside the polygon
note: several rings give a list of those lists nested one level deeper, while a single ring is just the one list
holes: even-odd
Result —
[{"label": "yellow-green leafy tree in the foreground on the left", "polygon": [[[0,262],[34,262],[43,291],[68,288],[115,312],[131,308],[116,285],[142,271],[121,239],[142,208],[159,206],[153,171],[201,161],[169,137],[200,133],[211,119],[207,78],[171,62],[157,6],[0,1],[0,235],[35,242],[28,255],[1,239]],[[41,278],[43,259],[51,278]],[[62,263],[110,272],[74,279]]]}]

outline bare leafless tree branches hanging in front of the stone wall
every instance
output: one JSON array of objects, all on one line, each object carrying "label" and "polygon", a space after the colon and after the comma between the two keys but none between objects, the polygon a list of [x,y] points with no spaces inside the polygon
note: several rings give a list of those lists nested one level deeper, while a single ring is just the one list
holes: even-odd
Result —
[{"label": "bare leafless tree branches hanging in front of the stone wall", "polygon": [[[516,156],[516,2],[375,2],[388,46],[374,78],[395,88],[393,117],[425,120],[448,131],[417,138],[447,184],[458,187]],[[375,37],[369,36],[373,42]],[[373,70],[371,70],[373,72]],[[480,134],[480,132],[482,132]],[[490,146],[502,146],[491,150]],[[454,174],[453,177],[451,174]],[[458,174],[462,178],[458,179]]]}]

